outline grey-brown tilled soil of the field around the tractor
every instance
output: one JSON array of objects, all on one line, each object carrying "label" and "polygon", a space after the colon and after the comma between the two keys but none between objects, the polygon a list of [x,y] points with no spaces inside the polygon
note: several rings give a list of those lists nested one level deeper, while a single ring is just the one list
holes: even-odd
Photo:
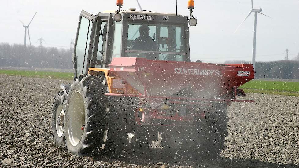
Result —
[{"label": "grey-brown tilled soil of the field around the tractor", "polygon": [[299,167],[299,97],[266,94],[229,107],[219,159],[167,160],[158,148],[150,159],[69,155],[53,144],[50,109],[59,84],[70,82],[0,75],[0,167]]}]

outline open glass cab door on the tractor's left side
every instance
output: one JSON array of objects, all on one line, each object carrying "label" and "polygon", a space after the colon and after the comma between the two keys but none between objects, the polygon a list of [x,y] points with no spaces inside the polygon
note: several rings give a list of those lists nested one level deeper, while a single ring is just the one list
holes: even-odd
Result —
[{"label": "open glass cab door on the tractor's left side", "polygon": [[73,54],[75,77],[88,72],[96,27],[95,19],[95,15],[81,11]]}]

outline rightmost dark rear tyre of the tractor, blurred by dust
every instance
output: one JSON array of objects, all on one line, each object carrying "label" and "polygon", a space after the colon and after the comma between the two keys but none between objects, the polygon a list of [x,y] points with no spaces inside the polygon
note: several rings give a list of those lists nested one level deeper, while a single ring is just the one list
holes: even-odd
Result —
[{"label": "rightmost dark rear tyre of the tractor, blurred by dust", "polygon": [[208,158],[217,158],[220,156],[220,152],[225,148],[225,137],[228,135],[227,122],[228,117],[226,110],[213,111],[205,114],[205,122],[201,128],[204,135],[198,137],[201,142],[200,153]]}]

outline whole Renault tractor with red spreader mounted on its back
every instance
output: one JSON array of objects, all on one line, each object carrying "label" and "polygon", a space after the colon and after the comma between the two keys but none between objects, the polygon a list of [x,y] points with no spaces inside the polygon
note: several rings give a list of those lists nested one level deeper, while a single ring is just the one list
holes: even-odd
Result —
[{"label": "whole Renault tractor with red spreader mounted on its back", "polygon": [[[173,158],[217,157],[228,135],[227,107],[246,96],[252,64],[190,60],[190,16],[146,10],[81,12],[72,84],[52,107],[54,143],[76,156],[148,153],[152,141]],[[139,155],[138,154],[138,155]]]}]

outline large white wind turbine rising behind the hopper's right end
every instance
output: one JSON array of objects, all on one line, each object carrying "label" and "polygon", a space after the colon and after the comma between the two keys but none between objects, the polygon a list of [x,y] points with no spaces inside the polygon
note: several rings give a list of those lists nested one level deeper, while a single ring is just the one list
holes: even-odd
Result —
[{"label": "large white wind turbine rising behind the hopper's right end", "polygon": [[[254,27],[253,27],[253,48],[252,48],[252,59],[251,64],[253,64],[253,68],[255,68],[255,49],[256,49],[256,37],[257,37],[257,13],[260,13],[262,15],[265,15],[262,13],[261,8],[253,8],[253,0],[251,0],[251,9],[249,14],[245,17],[245,19],[242,21],[242,23],[238,26],[238,28],[244,23],[244,21],[250,16],[250,14],[254,12]],[[265,15],[267,16],[267,15]],[[270,16],[267,16],[270,17]],[[270,17],[271,18],[271,17]],[[237,32],[238,28],[234,33]]]}]

